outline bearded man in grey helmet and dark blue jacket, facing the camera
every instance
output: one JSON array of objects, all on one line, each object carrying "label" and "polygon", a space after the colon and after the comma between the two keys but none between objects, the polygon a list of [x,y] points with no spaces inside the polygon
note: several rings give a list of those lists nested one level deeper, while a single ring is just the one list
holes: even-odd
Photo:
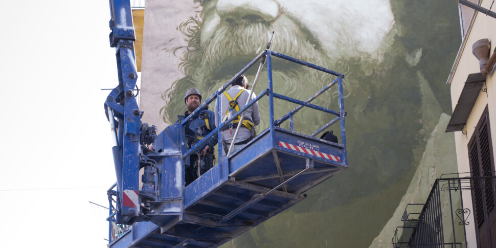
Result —
[{"label": "bearded man in grey helmet and dark blue jacket, facing the camera", "polygon": [[[187,111],[184,113],[184,116],[177,116],[178,119],[176,123],[183,121],[200,106],[201,95],[198,89],[190,88],[186,92],[184,102],[186,103]],[[186,123],[185,132],[187,146],[193,147],[196,143],[205,138],[213,129],[215,129],[214,112],[208,110],[208,106],[205,106],[205,108],[199,110],[195,116]],[[187,164],[185,168],[186,185],[190,184],[201,174],[212,168],[215,159],[215,144],[217,144],[217,135],[214,134],[202,150],[190,156],[190,163]]]}]

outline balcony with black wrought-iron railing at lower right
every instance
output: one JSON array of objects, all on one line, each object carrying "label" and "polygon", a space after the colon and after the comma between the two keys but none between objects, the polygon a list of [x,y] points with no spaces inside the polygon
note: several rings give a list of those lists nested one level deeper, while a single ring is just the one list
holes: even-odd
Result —
[{"label": "balcony with black wrought-iron railing at lower right", "polygon": [[[494,206],[494,197],[488,195],[494,195],[495,179],[495,176],[470,173],[441,175],[425,204],[407,205],[401,218],[402,226],[394,232],[393,247],[468,247],[469,242],[477,243],[477,247],[494,247],[490,237],[496,233],[491,233],[489,221],[484,220],[494,214],[494,208],[489,208]],[[470,191],[471,197],[467,199],[462,191]],[[478,192],[485,192],[484,197],[478,197]],[[472,212],[475,223],[468,220]],[[478,234],[478,241],[467,240],[467,227],[475,228],[489,238],[481,239]]]}]

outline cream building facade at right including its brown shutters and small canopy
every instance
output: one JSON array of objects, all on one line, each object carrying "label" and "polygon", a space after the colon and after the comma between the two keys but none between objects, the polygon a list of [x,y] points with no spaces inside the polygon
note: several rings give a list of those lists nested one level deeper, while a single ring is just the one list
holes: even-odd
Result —
[{"label": "cream building facade at right including its brown shutters and small canopy", "polygon": [[[492,3],[477,4],[490,10]],[[496,137],[496,75],[488,61],[496,47],[496,18],[483,12],[460,5],[463,41],[446,82],[453,106],[446,132],[455,135],[460,177],[471,178],[462,190],[464,207],[471,213],[465,218],[472,223],[465,227],[467,247],[496,247],[492,139]]]}]

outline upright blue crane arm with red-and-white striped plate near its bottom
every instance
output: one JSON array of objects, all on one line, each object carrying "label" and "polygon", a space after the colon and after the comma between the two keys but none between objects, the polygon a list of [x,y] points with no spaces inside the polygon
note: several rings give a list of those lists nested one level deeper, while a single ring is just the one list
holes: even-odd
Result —
[{"label": "upright blue crane arm with red-and-white striped plate near its bottom", "polygon": [[134,28],[129,0],[109,0],[110,47],[116,48],[119,85],[108,95],[104,108],[112,126],[112,147],[117,175],[118,223],[132,223],[139,215],[141,112],[134,97],[138,78],[134,58]]}]

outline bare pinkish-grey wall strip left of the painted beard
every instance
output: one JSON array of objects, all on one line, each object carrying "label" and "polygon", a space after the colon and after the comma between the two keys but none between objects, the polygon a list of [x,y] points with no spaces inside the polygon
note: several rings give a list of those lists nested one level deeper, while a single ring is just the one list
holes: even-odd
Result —
[{"label": "bare pinkish-grey wall strip left of the painted beard", "polygon": [[168,100],[164,91],[184,77],[178,70],[184,49],[177,48],[187,46],[187,37],[178,26],[194,16],[195,6],[193,1],[146,1],[140,108],[145,111],[143,121],[159,131],[170,124],[160,114]]}]

